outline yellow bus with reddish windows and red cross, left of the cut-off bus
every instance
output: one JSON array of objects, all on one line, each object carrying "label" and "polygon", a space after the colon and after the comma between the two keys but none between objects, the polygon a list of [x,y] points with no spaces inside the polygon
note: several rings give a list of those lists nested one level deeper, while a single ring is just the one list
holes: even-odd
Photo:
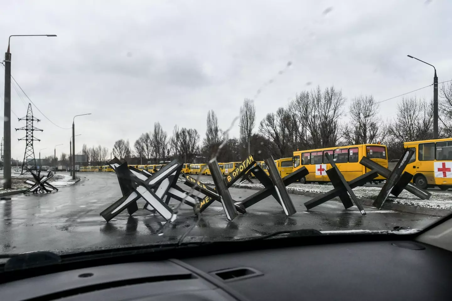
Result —
[{"label": "yellow bus with reddish windows and red cross, left of the cut-off bus", "polygon": [[[301,183],[319,182],[324,184],[330,181],[326,175],[326,170],[331,168],[331,164],[325,157],[325,153],[334,156],[336,166],[344,175],[346,181],[366,173],[367,168],[359,164],[362,157],[368,157],[383,167],[388,167],[388,157],[386,145],[382,144],[359,144],[340,146],[334,148],[319,148],[293,152],[293,171],[301,167],[306,167],[309,174],[302,179]],[[372,181],[383,181],[382,176],[377,176]]]}]

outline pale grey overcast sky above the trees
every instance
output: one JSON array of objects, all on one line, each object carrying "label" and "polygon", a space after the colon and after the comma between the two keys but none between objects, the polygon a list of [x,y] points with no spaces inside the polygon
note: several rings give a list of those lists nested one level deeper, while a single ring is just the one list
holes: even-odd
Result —
[{"label": "pale grey overcast sky above the trees", "polygon": [[[432,83],[433,68],[408,54],[435,65],[440,82],[450,80],[451,11],[449,0],[9,1],[0,10],[0,46],[6,51],[13,34],[58,35],[12,37],[11,73],[63,128],[92,113],[75,119],[78,153],[83,143],[133,145],[155,121],[169,135],[177,124],[202,138],[210,109],[225,130],[243,99],[271,79],[255,98],[257,123],[316,85],[342,89],[347,111],[360,94],[381,101]],[[408,96],[430,99],[433,87]],[[14,86],[11,97],[14,113],[25,116],[26,97]],[[395,117],[400,99],[381,104],[383,118]],[[44,130],[36,157],[61,143],[57,155],[68,153],[71,130],[33,113]],[[12,156],[21,160],[25,132],[14,128],[24,122],[11,116]]]}]

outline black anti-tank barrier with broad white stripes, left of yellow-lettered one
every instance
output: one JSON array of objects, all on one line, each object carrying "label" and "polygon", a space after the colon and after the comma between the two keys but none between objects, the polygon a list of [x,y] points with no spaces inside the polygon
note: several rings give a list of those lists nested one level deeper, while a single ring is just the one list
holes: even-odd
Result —
[{"label": "black anti-tank barrier with broad white stripes, left of yellow-lettered one", "polygon": [[120,163],[117,158],[109,162],[118,175],[123,196],[100,213],[107,222],[125,208],[129,214],[134,213],[137,210],[137,200],[139,199],[146,201],[144,209],[159,213],[165,220],[173,217],[173,210],[168,206],[170,198],[184,200],[191,206],[199,201],[196,196],[186,193],[176,185],[182,169],[182,163],[178,160],[171,161],[153,175],[133,167],[129,169],[127,162]]}]

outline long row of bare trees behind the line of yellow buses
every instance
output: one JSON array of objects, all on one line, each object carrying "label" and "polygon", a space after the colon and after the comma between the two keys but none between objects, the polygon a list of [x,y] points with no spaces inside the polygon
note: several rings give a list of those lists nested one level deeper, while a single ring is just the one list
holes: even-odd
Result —
[{"label": "long row of bare trees behind the line of yellow buses", "polygon": [[[452,83],[440,88],[439,137],[452,134]],[[249,152],[256,160],[292,157],[295,150],[339,147],[353,144],[381,143],[388,147],[389,159],[397,159],[404,141],[433,137],[433,101],[404,97],[397,104],[396,117],[383,119],[381,106],[372,95],[354,97],[345,106],[346,98],[334,86],[302,91],[276,112],[270,112],[260,122],[256,107],[245,98],[237,117],[238,138],[230,137],[218,126],[218,117],[208,111],[205,137],[200,141],[198,130],[174,125],[169,136],[159,122],[153,131],[142,133],[134,142],[119,139],[114,143],[113,155],[121,161],[135,164],[167,162],[179,158],[182,162],[207,162],[216,157],[218,162],[240,161]],[[341,121],[347,117],[348,121]],[[229,120],[228,120],[229,121]],[[82,153],[92,164],[101,164],[106,153],[100,145],[86,148]],[[107,152],[108,153],[108,152]]]}]

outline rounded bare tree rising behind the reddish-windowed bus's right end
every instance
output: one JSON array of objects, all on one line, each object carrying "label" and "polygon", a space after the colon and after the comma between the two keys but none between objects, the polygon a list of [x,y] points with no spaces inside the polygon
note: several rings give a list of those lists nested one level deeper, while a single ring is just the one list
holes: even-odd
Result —
[{"label": "rounded bare tree rising behind the reddish-windowed bus's right end", "polygon": [[350,122],[344,126],[342,134],[347,144],[376,143],[384,139],[381,131],[379,105],[372,95],[359,96],[350,104]]}]

